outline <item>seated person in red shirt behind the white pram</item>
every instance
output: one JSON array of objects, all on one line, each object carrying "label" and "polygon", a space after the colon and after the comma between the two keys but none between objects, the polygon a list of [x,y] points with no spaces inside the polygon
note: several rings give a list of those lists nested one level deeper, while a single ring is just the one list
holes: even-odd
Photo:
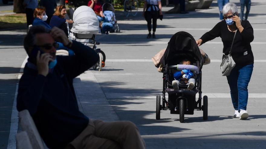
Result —
[{"label": "seated person in red shirt behind the white pram", "polygon": [[100,2],[98,2],[98,0],[90,0],[88,2],[88,6],[93,9],[99,22],[102,22],[102,21],[106,22],[105,16],[102,13],[102,5]]}]

